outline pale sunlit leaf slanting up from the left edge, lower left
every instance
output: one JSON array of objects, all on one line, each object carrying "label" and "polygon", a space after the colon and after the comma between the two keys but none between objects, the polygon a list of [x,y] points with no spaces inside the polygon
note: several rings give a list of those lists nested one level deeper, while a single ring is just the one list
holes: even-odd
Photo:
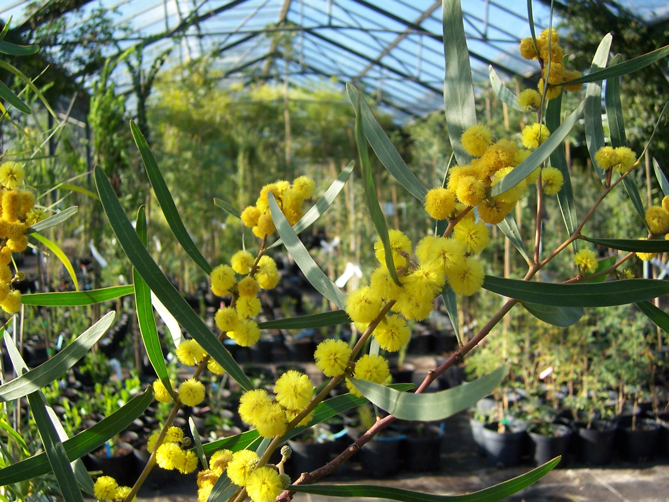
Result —
[{"label": "pale sunlit leaf slanting up from the left edge, lower left", "polygon": [[102,338],[102,335],[114,322],[114,317],[116,317],[114,311],[107,313],[54,357],[0,386],[0,402],[27,396],[56,380],[84,357],[90,347]]}]

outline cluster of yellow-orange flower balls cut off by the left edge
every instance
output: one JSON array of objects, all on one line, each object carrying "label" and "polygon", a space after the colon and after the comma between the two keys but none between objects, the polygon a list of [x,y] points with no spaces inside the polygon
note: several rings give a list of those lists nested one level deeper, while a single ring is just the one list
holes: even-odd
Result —
[{"label": "cluster of yellow-orange flower balls cut off by the left edge", "polygon": [[16,162],[0,165],[0,307],[13,314],[21,309],[21,293],[11,289],[17,277],[11,273],[9,263],[12,252],[21,252],[28,246],[25,230],[43,220],[41,210],[34,210],[35,195],[21,190],[23,167]]}]

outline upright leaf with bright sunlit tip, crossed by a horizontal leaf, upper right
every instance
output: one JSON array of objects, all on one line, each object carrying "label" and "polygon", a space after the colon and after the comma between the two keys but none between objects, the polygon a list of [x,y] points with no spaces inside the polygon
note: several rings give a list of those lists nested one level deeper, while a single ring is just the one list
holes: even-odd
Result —
[{"label": "upright leaf with bright sunlit tip, crossed by a horizontal leaf, upper right", "polygon": [[[599,42],[595,57],[592,59],[591,73],[605,68],[609,60],[611,39],[611,33],[607,33]],[[601,124],[601,80],[591,81],[585,88],[585,143],[592,165],[595,166],[599,178],[604,179],[604,170],[595,161],[595,153],[604,146],[604,129]]]}]

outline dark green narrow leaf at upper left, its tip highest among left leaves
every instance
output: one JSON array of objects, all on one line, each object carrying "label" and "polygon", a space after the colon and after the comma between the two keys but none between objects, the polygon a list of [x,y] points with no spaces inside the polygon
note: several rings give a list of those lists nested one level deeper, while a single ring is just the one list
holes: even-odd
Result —
[{"label": "dark green narrow leaf at upper left, its tip highest among left leaves", "polygon": [[193,239],[191,239],[191,236],[188,234],[188,230],[186,230],[186,227],[181,221],[177,206],[172,199],[172,195],[169,193],[167,183],[165,183],[165,179],[163,179],[161,170],[158,167],[155,157],[153,157],[153,153],[151,153],[147,140],[144,138],[144,135],[142,135],[142,131],[139,130],[137,124],[132,120],[130,120],[130,131],[132,132],[134,142],[139,149],[139,153],[142,156],[144,166],[147,168],[149,181],[151,181],[151,186],[156,194],[158,203],[161,205],[161,209],[163,210],[167,224],[169,224],[169,228],[171,228],[172,233],[179,241],[179,244],[181,244],[183,250],[191,257],[195,264],[199,266],[205,274],[211,273],[211,265],[205,260],[205,257],[202,256],[199,249],[197,249],[195,242],[193,242]]}]

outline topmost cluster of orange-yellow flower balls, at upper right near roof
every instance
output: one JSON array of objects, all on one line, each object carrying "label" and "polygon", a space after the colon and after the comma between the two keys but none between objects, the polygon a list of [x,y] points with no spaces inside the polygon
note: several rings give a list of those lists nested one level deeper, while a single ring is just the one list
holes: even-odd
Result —
[{"label": "topmost cluster of orange-yellow flower balls, at upper right near roof", "polygon": [[[539,84],[537,85],[538,91],[534,89],[526,89],[520,92],[518,95],[518,105],[520,105],[520,108],[523,108],[524,110],[529,110],[531,108],[537,110],[539,106],[541,106],[541,94],[543,94],[544,91],[545,80],[548,80],[549,83],[549,87],[546,90],[547,99],[557,98],[562,92],[563,87],[565,90],[577,91],[583,86],[583,84],[561,85],[563,82],[569,82],[569,80],[579,78],[581,72],[577,72],[576,70],[565,70],[565,54],[559,42],[560,37],[555,28],[551,31],[550,37],[548,29],[541,32],[541,35],[537,37],[537,47],[535,47],[535,42],[532,37],[527,37],[520,41],[520,56],[526,60],[537,60],[541,58],[541,74],[543,75],[543,78],[539,79]],[[539,54],[537,54],[537,48],[539,48]],[[551,67],[550,70],[549,62]],[[549,72],[548,78],[546,78],[547,71]]]}]

